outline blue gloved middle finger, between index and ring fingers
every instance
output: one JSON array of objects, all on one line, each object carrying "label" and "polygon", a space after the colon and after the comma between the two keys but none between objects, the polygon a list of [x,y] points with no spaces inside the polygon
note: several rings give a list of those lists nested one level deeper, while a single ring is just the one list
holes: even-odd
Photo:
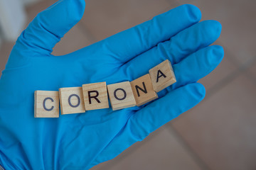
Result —
[{"label": "blue gloved middle finger, between index and ring fingers", "polygon": [[[149,69],[168,59],[176,64],[198,49],[207,47],[220,36],[218,21],[203,21],[175,35],[171,40],[161,42],[151,50],[135,57],[123,65],[122,69],[131,80],[149,72]],[[186,69],[186,68],[183,68]]]}]

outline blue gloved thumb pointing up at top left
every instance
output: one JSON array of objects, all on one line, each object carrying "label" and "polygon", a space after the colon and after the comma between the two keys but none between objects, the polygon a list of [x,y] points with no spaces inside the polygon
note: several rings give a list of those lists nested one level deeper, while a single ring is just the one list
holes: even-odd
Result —
[{"label": "blue gloved thumb pointing up at top left", "polygon": [[38,13],[36,18],[21,33],[16,47],[36,52],[37,55],[50,55],[53,47],[82,18],[84,0],[60,0]]}]

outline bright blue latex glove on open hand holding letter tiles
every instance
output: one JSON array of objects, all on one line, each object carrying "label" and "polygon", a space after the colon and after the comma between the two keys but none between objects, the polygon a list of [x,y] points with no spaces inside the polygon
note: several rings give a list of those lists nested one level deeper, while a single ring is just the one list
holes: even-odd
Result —
[{"label": "bright blue latex glove on open hand holding letter tiles", "polygon": [[[183,5],[69,55],[54,45],[82,17],[84,0],[58,1],[38,14],[18,38],[0,80],[0,164],[5,169],[90,169],[195,106],[205,96],[196,83],[223,58],[209,46],[217,21]],[[72,43],[72,42],[70,42]],[[141,107],[34,118],[33,93],[107,81],[132,81],[169,59],[177,82]]]}]

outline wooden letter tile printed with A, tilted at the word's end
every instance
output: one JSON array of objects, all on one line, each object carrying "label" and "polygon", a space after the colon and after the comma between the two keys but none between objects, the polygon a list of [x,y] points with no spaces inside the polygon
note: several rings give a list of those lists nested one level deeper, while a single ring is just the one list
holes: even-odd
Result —
[{"label": "wooden letter tile printed with A, tilted at the word's end", "polygon": [[176,82],[174,70],[171,67],[171,62],[169,60],[165,60],[156,67],[149,69],[149,74],[153,84],[153,89],[156,92],[159,92]]}]

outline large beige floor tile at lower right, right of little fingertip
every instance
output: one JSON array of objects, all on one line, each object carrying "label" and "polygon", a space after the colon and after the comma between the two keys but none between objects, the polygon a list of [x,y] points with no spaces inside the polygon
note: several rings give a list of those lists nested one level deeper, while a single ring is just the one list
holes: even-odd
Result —
[{"label": "large beige floor tile at lower right, right of little fingertip", "polygon": [[210,169],[256,169],[255,101],[255,84],[240,74],[174,127]]}]

